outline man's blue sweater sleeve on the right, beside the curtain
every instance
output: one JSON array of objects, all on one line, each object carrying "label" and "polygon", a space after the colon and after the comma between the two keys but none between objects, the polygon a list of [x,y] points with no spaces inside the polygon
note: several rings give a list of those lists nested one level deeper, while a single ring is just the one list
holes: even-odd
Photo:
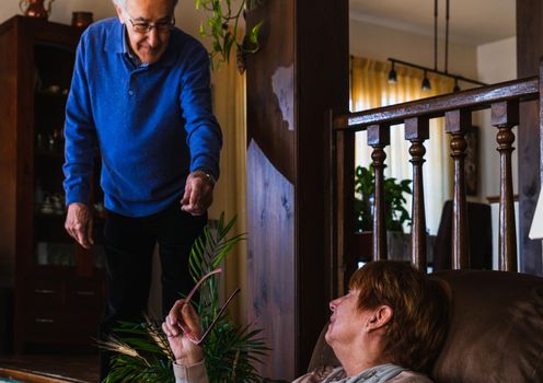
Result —
[{"label": "man's blue sweater sleeve on the right, beside the curtain", "polygon": [[205,170],[218,179],[222,134],[212,113],[209,57],[199,45],[190,50],[180,100],[190,150],[190,172]]}]

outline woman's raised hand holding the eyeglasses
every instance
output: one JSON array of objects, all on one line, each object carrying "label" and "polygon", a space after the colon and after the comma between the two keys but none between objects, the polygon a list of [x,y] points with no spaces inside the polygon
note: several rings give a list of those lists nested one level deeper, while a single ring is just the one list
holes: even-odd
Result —
[{"label": "woman's raised hand holding the eyeglasses", "polygon": [[177,364],[193,365],[204,360],[204,350],[190,340],[201,336],[200,318],[185,300],[175,302],[162,324],[162,329],[167,336]]}]

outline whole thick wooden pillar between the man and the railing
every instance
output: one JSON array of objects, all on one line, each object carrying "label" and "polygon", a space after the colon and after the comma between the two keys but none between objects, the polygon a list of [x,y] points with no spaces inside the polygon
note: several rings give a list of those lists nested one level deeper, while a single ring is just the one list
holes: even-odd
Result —
[{"label": "whole thick wooden pillar between the man and the railing", "polygon": [[262,20],[246,77],[249,318],[270,336],[263,374],[292,380],[330,315],[328,109],[348,106],[348,2],[267,1],[247,25]]}]

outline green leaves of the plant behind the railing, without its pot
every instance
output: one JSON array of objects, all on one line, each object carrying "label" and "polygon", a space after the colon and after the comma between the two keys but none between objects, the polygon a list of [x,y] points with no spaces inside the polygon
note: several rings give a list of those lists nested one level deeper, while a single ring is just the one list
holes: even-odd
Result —
[{"label": "green leaves of the plant behind the railing, without its pot", "polygon": [[[365,232],[373,229],[373,196],[376,172],[373,166],[357,166],[355,169],[355,231]],[[385,177],[384,220],[386,230],[403,232],[405,223],[411,224],[409,212],[404,205],[404,195],[412,195],[411,179],[397,181]]]}]

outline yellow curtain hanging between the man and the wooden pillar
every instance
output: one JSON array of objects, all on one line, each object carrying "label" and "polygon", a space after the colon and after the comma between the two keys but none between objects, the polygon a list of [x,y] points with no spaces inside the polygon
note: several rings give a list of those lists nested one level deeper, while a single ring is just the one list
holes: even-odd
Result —
[{"label": "yellow curtain hanging between the man and the wooden pillar", "polygon": [[[246,120],[245,76],[238,72],[235,57],[212,73],[213,108],[222,129],[221,175],[213,192],[209,219],[218,219],[224,211],[227,220],[238,216],[232,234],[246,232]],[[232,301],[230,313],[234,320],[246,312],[246,244],[240,243],[224,265],[223,288],[230,294],[241,288]]]}]

